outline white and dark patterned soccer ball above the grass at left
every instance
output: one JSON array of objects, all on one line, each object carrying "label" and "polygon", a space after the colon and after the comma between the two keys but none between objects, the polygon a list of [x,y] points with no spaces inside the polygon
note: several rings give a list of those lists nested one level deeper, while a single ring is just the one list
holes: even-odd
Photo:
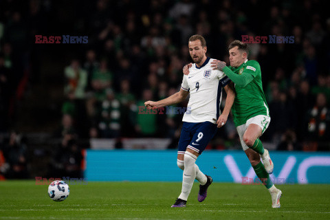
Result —
[{"label": "white and dark patterned soccer ball above the grass at left", "polygon": [[48,186],[48,195],[54,201],[63,201],[69,196],[70,189],[69,185],[65,181],[55,180]]}]

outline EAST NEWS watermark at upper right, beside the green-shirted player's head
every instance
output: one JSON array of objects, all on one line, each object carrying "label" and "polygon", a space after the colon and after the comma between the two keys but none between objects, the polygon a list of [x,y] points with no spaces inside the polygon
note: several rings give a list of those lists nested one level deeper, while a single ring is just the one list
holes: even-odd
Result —
[{"label": "EAST NEWS watermark at upper right, beside the green-shirted player's head", "polygon": [[249,36],[242,35],[243,43],[294,43],[294,36]]}]

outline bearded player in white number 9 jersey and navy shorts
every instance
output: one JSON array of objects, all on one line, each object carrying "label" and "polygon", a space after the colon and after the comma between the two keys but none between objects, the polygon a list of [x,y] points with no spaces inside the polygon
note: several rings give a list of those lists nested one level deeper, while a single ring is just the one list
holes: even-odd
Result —
[{"label": "bearded player in white number 9 jersey and navy shorts", "polygon": [[[190,67],[190,74],[184,75],[180,91],[164,100],[144,102],[148,109],[157,109],[186,100],[190,94],[177,151],[177,166],[184,170],[182,190],[172,207],[186,207],[195,179],[200,184],[198,201],[206,199],[212,177],[204,175],[195,162],[217,132],[217,127],[227,122],[235,98],[230,79],[223,72],[212,69],[213,59],[206,56],[207,47],[203,36],[191,36],[188,47],[195,64]],[[222,87],[227,93],[227,99],[221,113]]]}]

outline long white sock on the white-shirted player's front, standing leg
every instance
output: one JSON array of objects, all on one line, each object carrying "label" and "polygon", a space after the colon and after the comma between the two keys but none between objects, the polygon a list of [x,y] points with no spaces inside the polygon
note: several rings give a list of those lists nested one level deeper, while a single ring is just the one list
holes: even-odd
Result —
[{"label": "long white sock on the white-shirted player's front, standing leg", "polygon": [[184,154],[184,175],[182,178],[182,190],[179,199],[187,201],[190,194],[192,184],[196,178],[196,162],[197,157],[190,152]]}]

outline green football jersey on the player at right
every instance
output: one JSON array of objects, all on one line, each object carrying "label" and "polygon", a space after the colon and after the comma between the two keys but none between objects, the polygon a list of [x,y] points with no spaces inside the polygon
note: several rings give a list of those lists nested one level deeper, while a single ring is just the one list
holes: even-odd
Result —
[{"label": "green football jersey on the player at right", "polygon": [[[263,83],[261,81],[261,69],[257,61],[245,61],[239,67],[224,67],[223,72],[228,76],[228,72],[234,74],[244,74],[253,76],[252,81],[248,84],[237,85],[235,83],[236,98],[232,105],[232,115],[235,126],[245,124],[247,120],[256,115],[270,116],[270,111],[263,93]],[[227,73],[226,73],[227,72]],[[250,77],[250,76],[248,76]]]}]

